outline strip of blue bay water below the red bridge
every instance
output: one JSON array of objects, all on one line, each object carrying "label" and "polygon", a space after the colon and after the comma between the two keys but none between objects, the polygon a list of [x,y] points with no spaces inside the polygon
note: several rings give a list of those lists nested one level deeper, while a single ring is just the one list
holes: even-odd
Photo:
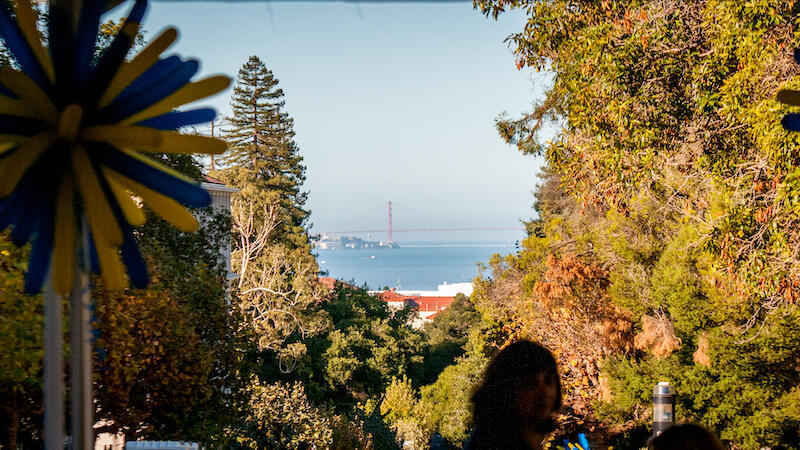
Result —
[{"label": "strip of blue bay water below the red bridge", "polygon": [[477,263],[495,253],[516,252],[515,242],[398,242],[399,248],[315,249],[319,268],[327,276],[377,290],[436,290],[447,283],[470,282]]}]

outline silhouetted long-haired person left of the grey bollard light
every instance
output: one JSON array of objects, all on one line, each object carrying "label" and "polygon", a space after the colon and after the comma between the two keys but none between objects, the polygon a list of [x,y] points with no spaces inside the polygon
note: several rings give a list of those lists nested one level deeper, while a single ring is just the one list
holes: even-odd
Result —
[{"label": "silhouetted long-haired person left of the grey bollard light", "polygon": [[539,450],[555,430],[561,382],[549,350],[531,341],[504,348],[472,394],[475,432],[465,450]]}]

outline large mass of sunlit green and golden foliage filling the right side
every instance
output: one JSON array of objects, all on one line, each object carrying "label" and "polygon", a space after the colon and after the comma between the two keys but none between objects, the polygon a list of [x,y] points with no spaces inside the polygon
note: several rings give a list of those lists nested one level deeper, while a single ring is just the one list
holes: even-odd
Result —
[{"label": "large mass of sunlit green and golden foliage filling the right side", "polygon": [[[605,296],[617,318],[586,318],[602,334],[635,334],[634,348],[573,363],[563,359],[570,348],[548,340],[557,330],[540,333],[555,342],[562,371],[602,366],[598,379],[587,371],[585,383],[570,382],[597,393],[578,413],[599,414],[598,438],[641,446],[652,385],[669,380],[679,415],[733,448],[800,446],[800,380],[789,356],[800,349],[800,141],[781,127],[788,109],[774,99],[800,83],[794,2],[475,6],[495,18],[525,11],[524,29],[508,38],[517,66],[552,74],[534,111],[497,122],[501,136],[544,155],[547,167],[531,237],[518,255],[494,259],[473,294],[490,319],[486,336],[502,343],[541,318],[574,317],[580,305],[560,311],[553,302],[570,290]],[[542,143],[548,123],[559,133]],[[549,261],[567,254],[606,275],[591,289],[554,283]]]}]

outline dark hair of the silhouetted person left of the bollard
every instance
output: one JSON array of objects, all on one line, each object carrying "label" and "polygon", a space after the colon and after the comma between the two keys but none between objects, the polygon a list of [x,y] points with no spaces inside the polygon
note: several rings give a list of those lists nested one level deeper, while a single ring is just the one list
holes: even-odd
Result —
[{"label": "dark hair of the silhouetted person left of the bollard", "polygon": [[[540,423],[530,423],[519,412],[519,394],[538,390],[544,396],[544,384],[555,386],[552,411],[543,411]],[[475,448],[514,448],[522,442],[526,427],[542,434],[555,430],[551,413],[561,408],[561,381],[556,360],[549,350],[531,341],[518,341],[501,350],[486,368],[483,382],[472,393]],[[548,407],[542,404],[541,407]],[[538,407],[535,406],[535,407]],[[546,417],[546,418],[545,418]],[[480,442],[492,439],[492,445]],[[502,441],[498,441],[502,439]]]}]

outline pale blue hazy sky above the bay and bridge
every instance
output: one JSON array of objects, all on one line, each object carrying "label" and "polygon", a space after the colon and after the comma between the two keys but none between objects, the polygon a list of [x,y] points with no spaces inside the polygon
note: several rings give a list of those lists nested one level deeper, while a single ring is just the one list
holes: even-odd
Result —
[{"label": "pale blue hazy sky above the bay and bridge", "polygon": [[[540,162],[494,128],[501,112],[529,110],[547,81],[518,71],[503,42],[522,29],[521,14],[495,22],[471,2],[151,3],[147,37],[172,24],[181,32],[172,50],[199,58],[204,75],[235,75],[258,55],[280,80],[307,166],[313,231],[384,229],[387,200],[396,229],[514,227],[533,214]],[[207,103],[227,115],[229,98]]]}]

